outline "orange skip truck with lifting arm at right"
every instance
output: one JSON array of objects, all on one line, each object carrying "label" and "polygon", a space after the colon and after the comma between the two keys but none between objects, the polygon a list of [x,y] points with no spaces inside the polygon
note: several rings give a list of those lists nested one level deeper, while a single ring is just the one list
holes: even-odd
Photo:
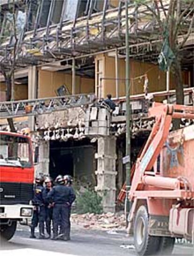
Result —
[{"label": "orange skip truck with lifting arm at right", "polygon": [[153,103],[149,116],[155,124],[132,168],[127,233],[139,256],[169,255],[175,238],[194,243],[194,125],[169,132],[172,119],[194,120],[194,107]]}]

